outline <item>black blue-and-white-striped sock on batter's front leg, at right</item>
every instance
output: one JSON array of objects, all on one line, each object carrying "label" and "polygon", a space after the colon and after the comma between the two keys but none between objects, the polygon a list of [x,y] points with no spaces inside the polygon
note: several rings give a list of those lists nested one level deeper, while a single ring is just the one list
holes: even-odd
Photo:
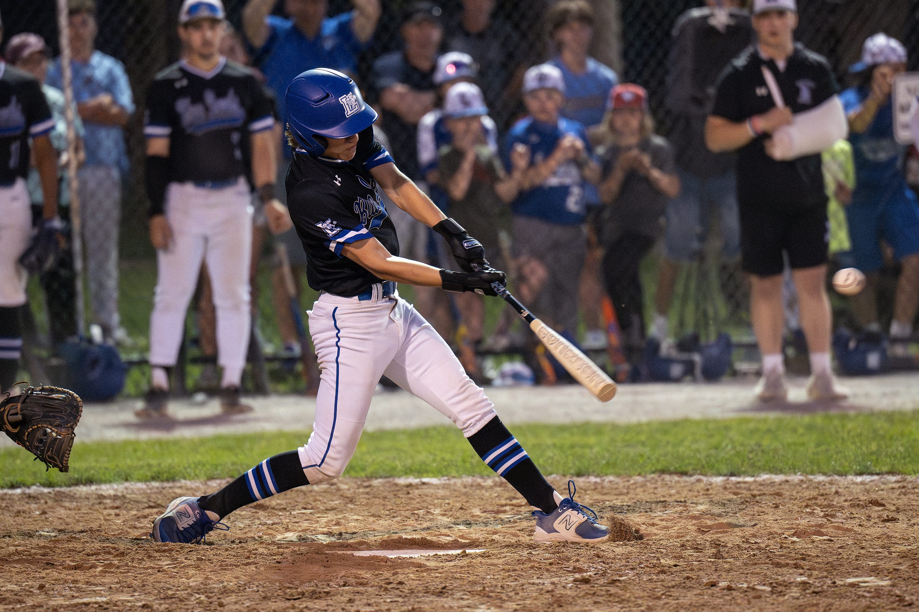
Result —
[{"label": "black blue-and-white-striped sock on batter's front leg, at right", "polygon": [[530,505],[546,514],[559,507],[555,503],[555,489],[497,416],[468,439],[482,461],[523,495]]}]

